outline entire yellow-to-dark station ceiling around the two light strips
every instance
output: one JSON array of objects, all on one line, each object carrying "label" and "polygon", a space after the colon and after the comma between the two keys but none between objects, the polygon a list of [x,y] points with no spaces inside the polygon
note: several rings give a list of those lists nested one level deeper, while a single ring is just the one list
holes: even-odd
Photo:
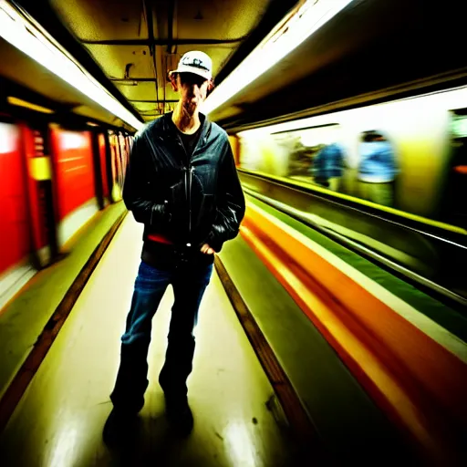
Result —
[{"label": "entire yellow-to-dark station ceiling around the two light strips", "polygon": [[[167,72],[185,51],[213,57],[219,84],[302,2],[17,0],[16,5],[137,118],[149,121],[173,108],[176,96]],[[232,130],[303,109],[332,109],[335,102],[374,97],[405,83],[420,89],[465,83],[461,4],[354,0],[210,118]],[[4,40],[0,55],[0,75],[9,81],[53,99],[62,110],[122,124]]]}]

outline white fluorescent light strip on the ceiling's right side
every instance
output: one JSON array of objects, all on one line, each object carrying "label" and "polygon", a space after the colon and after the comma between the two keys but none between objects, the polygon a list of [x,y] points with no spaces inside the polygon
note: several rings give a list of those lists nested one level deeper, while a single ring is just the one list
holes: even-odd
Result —
[{"label": "white fluorescent light strip on the ceiling's right side", "polygon": [[253,52],[223,80],[203,104],[202,111],[213,112],[241,89],[260,77],[307,37],[315,33],[353,0],[307,0],[295,15],[282,21]]}]

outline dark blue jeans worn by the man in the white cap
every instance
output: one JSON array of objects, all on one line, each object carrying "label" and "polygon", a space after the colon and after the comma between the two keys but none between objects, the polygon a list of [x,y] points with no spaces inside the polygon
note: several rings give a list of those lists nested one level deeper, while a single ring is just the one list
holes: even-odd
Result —
[{"label": "dark blue jeans worn by the man in the white cap", "polygon": [[144,405],[144,392],[149,384],[147,357],[151,321],[168,285],[173,287],[174,302],[159,381],[165,393],[186,397],[186,379],[192,372],[195,346],[193,330],[212,273],[212,264],[187,261],[170,270],[161,270],[141,261],[125,334],[121,337],[119,372],[110,395],[116,409],[137,412]]}]

